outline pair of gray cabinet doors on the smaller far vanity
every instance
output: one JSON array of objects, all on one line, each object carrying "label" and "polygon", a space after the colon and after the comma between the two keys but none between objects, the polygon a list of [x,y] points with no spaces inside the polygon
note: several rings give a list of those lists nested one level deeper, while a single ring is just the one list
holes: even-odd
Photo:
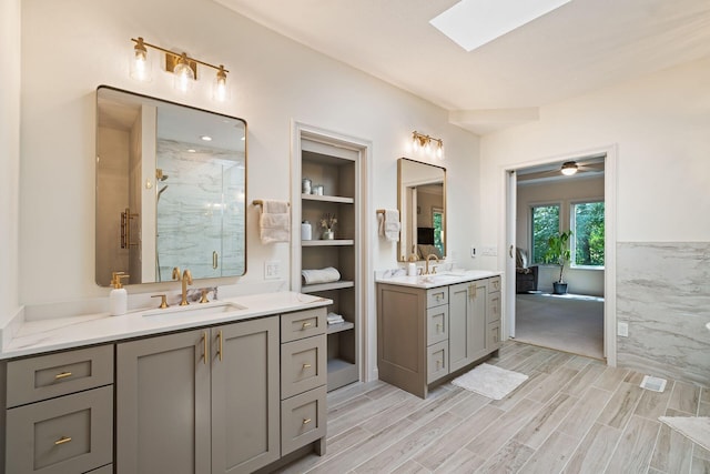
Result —
[{"label": "pair of gray cabinet doors on the smaller far vanity", "polygon": [[486,351],[485,280],[449,286],[449,372],[457,371]]}]

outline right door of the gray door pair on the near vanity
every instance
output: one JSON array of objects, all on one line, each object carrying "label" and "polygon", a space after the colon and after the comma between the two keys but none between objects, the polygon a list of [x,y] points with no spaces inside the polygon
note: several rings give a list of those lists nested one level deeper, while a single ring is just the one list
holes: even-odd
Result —
[{"label": "right door of the gray door pair on the near vanity", "polygon": [[278,316],[212,329],[212,473],[280,456]]}]

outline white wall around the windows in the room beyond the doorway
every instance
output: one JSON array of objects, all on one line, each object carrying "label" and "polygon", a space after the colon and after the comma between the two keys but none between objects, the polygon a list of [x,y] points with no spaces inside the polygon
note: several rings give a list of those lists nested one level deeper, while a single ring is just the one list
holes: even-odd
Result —
[{"label": "white wall around the windows in the room beyond the doorway", "polygon": [[[530,206],[535,204],[560,204],[562,230],[569,229],[570,204],[580,200],[604,200],[604,178],[572,178],[538,184],[518,185],[516,211],[516,244],[528,251],[531,248]],[[539,265],[538,290],[551,291],[552,282],[559,280],[559,266]],[[576,294],[604,296],[604,271],[591,269],[565,269],[568,291]]]}]

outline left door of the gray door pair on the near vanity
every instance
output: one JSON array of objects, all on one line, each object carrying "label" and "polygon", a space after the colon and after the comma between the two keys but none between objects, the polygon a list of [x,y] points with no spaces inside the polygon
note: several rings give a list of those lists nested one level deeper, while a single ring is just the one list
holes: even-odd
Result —
[{"label": "left door of the gray door pair on the near vanity", "polygon": [[211,471],[209,339],[204,330],[116,345],[119,474]]}]

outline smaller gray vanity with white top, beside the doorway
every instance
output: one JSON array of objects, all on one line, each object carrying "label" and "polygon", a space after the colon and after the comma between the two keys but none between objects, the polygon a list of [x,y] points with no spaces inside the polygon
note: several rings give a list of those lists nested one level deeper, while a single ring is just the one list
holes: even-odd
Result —
[{"label": "smaller gray vanity with white top, beside the doorway", "polygon": [[377,279],[381,380],[426,399],[499,347],[498,273]]}]

